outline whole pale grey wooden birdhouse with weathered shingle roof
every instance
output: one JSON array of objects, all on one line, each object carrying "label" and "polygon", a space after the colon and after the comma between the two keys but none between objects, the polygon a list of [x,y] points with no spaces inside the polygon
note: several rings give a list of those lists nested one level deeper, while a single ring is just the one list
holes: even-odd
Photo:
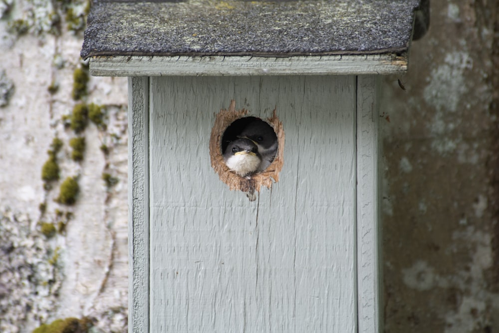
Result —
[{"label": "whole pale grey wooden birdhouse with weathered shingle roof", "polygon": [[94,1],[81,55],[129,77],[129,332],[382,332],[379,77],[424,9]]}]

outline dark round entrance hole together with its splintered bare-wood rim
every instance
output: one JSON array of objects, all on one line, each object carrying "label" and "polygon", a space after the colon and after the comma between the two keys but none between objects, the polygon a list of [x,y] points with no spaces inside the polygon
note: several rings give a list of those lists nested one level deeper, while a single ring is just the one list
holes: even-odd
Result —
[{"label": "dark round entrance hole together with its splintered bare-wood rim", "polygon": [[[229,185],[231,190],[254,193],[254,191],[259,192],[261,186],[271,188],[272,183],[279,180],[279,172],[284,163],[284,130],[282,122],[275,114],[275,109],[272,117],[267,118],[266,121],[247,116],[248,112],[245,109],[236,110],[236,101],[234,100],[231,100],[229,109],[220,110],[216,115],[210,137],[210,158],[212,167],[218,173],[220,180]],[[242,177],[229,169],[224,160],[223,152],[226,151],[231,142],[240,139],[240,137],[249,138],[255,145],[258,143],[258,139],[260,139],[258,135],[251,131],[245,131],[250,124],[250,129],[254,128],[254,124],[259,124],[257,125],[258,130],[262,128],[265,130],[265,126],[268,126],[267,129],[271,129],[275,134],[277,148],[275,149],[275,157],[271,162],[268,161],[269,164],[267,163],[264,170],[258,170]],[[264,152],[264,150],[261,151]],[[265,152],[263,155],[268,156]]]}]

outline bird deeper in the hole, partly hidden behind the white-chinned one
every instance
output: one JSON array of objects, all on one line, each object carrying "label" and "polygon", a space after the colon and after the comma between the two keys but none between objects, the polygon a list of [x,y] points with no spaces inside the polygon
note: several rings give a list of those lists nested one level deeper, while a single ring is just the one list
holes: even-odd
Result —
[{"label": "bird deeper in the hole, partly hidden behind the white-chinned one", "polygon": [[277,153],[277,135],[268,123],[255,118],[243,128],[238,138],[250,139],[258,147],[261,162],[256,172],[264,171],[272,163]]}]

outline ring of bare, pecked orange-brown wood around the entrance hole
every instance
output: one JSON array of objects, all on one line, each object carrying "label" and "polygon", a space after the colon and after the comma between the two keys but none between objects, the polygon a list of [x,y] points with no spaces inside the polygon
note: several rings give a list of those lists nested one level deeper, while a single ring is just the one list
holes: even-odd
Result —
[{"label": "ring of bare, pecked orange-brown wood around the entrance hole", "polygon": [[221,149],[222,137],[227,127],[235,120],[246,116],[248,110],[236,110],[236,101],[231,100],[229,109],[222,109],[217,114],[210,137],[210,159],[212,168],[218,173],[220,180],[229,185],[231,191],[259,192],[261,186],[271,188],[272,182],[279,181],[279,172],[282,170],[284,164],[284,129],[275,111],[274,109],[272,116],[267,118],[267,122],[272,126],[277,135],[277,155],[265,171],[253,174],[250,179],[235,174],[227,167]]}]

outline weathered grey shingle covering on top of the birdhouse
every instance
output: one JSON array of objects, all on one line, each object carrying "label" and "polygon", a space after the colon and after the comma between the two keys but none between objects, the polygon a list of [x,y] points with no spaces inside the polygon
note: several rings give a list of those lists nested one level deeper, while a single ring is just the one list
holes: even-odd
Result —
[{"label": "weathered grey shingle covering on top of the birdhouse", "polygon": [[396,61],[408,51],[419,7],[420,0],[94,0],[81,56]]}]

